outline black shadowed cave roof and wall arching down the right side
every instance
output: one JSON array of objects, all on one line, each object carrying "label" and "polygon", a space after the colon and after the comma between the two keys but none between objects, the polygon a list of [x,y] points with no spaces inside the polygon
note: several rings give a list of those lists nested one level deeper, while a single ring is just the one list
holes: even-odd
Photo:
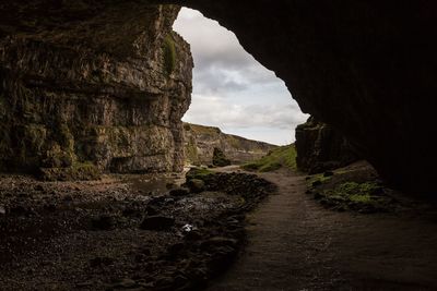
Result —
[{"label": "black shadowed cave roof and wall arching down the right side", "polygon": [[172,1],[232,29],[303,111],[343,133],[386,181],[437,179],[437,2]]}]

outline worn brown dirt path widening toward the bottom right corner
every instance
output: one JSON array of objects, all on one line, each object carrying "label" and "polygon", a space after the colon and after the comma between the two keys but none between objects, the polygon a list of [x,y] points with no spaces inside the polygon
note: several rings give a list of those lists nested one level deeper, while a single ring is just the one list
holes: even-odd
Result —
[{"label": "worn brown dirt path widening toward the bottom right corner", "polygon": [[209,290],[437,290],[437,216],[359,215],[319,206],[304,177],[279,185],[249,221],[249,243]]}]

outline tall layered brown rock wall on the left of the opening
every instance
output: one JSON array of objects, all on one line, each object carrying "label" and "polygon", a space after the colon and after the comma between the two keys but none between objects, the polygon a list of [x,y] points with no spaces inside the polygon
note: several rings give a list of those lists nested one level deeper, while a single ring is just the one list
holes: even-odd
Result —
[{"label": "tall layered brown rock wall on the left of the opening", "polygon": [[192,59],[178,11],[78,2],[2,19],[0,170],[181,170]]}]

